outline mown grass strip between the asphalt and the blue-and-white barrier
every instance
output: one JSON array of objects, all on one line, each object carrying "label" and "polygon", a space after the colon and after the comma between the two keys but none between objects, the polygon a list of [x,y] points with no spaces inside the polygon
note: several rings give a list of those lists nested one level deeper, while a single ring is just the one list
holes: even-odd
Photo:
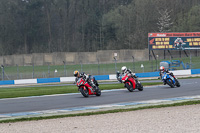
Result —
[{"label": "mown grass strip between the asphalt and the blue-and-white barrier", "polygon": [[[162,82],[143,83],[144,86],[160,85]],[[124,84],[101,84],[101,90],[124,88]],[[53,94],[77,93],[78,87],[75,85],[66,86],[38,86],[38,87],[19,87],[19,88],[0,88],[0,99],[16,98],[27,96],[41,96]]]}]

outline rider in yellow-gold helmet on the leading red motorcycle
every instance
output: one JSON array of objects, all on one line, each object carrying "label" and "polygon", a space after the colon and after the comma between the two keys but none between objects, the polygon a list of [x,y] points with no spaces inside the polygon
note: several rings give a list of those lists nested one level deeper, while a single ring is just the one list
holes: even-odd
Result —
[{"label": "rider in yellow-gold helmet on the leading red motorcycle", "polygon": [[97,90],[96,85],[98,86],[98,83],[94,79],[96,85],[94,84],[94,82],[91,79],[91,75],[87,75],[84,72],[83,73],[79,73],[79,71],[75,70],[74,71],[74,76],[76,77],[75,78],[75,82],[77,82],[79,78],[83,78],[83,80],[85,80],[89,84],[89,85],[85,84],[86,87],[90,88],[90,86],[91,86],[95,91]]}]

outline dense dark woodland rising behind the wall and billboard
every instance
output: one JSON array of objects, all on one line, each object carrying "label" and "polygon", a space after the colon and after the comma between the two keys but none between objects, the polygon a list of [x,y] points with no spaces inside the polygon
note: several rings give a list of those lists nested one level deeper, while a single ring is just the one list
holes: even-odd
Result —
[{"label": "dense dark woodland rising behind the wall and billboard", "polygon": [[143,49],[161,29],[200,31],[200,1],[0,1],[0,55]]}]

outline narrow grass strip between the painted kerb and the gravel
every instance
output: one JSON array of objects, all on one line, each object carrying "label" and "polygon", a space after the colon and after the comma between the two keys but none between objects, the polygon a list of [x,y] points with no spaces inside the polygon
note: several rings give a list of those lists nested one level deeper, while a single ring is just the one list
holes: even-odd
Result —
[{"label": "narrow grass strip between the painted kerb and the gravel", "polygon": [[10,120],[1,120],[0,123],[10,123],[10,122],[19,122],[19,121],[34,121],[34,120],[44,120],[44,119],[57,119],[57,118],[76,117],[76,116],[90,116],[90,115],[100,115],[100,114],[107,114],[107,113],[128,112],[128,111],[136,111],[136,110],[144,110],[144,109],[152,109],[152,108],[164,108],[164,107],[196,105],[196,104],[200,104],[200,100],[179,102],[179,103],[173,103],[173,104],[144,106],[144,107],[129,108],[129,109],[114,109],[114,110],[107,110],[107,111],[87,112],[87,113],[79,113],[79,114],[66,114],[66,115],[54,115],[54,116],[43,116],[43,117],[18,118],[18,119],[10,119]]}]

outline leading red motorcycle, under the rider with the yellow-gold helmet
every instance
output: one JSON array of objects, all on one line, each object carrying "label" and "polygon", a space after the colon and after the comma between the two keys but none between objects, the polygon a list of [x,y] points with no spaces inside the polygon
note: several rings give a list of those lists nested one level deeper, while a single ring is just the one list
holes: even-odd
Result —
[{"label": "leading red motorcycle, under the rider with the yellow-gold helmet", "polygon": [[91,87],[91,85],[88,82],[86,82],[83,78],[79,78],[76,85],[78,86],[78,90],[84,97],[88,97],[89,95],[101,96],[101,90],[99,89],[97,82],[95,83],[96,89]]}]

